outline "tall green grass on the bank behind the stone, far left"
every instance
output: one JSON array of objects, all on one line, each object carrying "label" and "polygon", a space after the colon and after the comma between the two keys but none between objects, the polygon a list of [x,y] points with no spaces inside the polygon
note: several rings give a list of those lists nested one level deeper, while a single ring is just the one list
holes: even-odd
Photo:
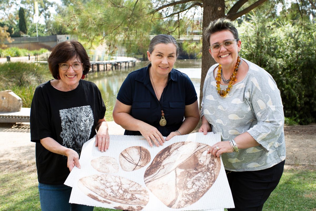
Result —
[{"label": "tall green grass on the bank behind the stone, far left", "polygon": [[47,65],[23,62],[0,64],[0,90],[12,90],[22,98],[23,107],[31,106],[35,88],[50,78]]}]

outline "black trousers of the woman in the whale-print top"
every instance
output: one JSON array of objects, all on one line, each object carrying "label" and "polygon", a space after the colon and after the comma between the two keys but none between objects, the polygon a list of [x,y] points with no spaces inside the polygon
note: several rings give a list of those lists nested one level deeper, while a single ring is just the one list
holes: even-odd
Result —
[{"label": "black trousers of the woman in the whale-print top", "polygon": [[259,171],[226,171],[235,204],[228,211],[261,211],[281,179],[284,163]]}]

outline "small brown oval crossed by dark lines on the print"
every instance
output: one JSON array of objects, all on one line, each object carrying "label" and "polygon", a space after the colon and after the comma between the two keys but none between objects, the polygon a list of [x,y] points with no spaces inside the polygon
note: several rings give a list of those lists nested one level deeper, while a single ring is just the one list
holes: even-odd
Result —
[{"label": "small brown oval crossed by dark lines on the print", "polygon": [[131,146],[119,155],[119,164],[124,171],[140,169],[150,162],[150,152],[142,146]]}]

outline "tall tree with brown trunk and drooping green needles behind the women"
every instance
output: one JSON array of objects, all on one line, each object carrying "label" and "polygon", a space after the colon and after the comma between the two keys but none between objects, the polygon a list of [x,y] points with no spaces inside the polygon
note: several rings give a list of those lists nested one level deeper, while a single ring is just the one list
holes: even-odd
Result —
[{"label": "tall tree with brown trunk and drooping green needles behind the women", "polygon": [[[202,28],[211,21],[226,17],[230,20],[243,16],[267,0],[91,0],[83,3],[67,0],[68,16],[63,18],[66,27],[73,33],[91,41],[107,40],[110,46],[134,43],[134,47],[146,48],[151,26],[163,20],[176,20],[173,30],[166,34],[180,32],[181,16],[188,11],[203,11]],[[274,7],[274,0],[269,4]],[[93,12],[91,12],[93,11]],[[180,35],[180,33],[179,33]],[[200,100],[206,73],[215,63],[209,55],[207,40],[202,40],[202,74]]]}]

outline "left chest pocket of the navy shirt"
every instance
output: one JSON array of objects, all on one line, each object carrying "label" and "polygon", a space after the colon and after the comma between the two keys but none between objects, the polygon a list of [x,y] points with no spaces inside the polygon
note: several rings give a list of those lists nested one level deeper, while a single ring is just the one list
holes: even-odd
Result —
[{"label": "left chest pocket of the navy shirt", "polygon": [[151,116],[150,101],[148,102],[133,102],[131,116],[135,119],[148,122]]}]

